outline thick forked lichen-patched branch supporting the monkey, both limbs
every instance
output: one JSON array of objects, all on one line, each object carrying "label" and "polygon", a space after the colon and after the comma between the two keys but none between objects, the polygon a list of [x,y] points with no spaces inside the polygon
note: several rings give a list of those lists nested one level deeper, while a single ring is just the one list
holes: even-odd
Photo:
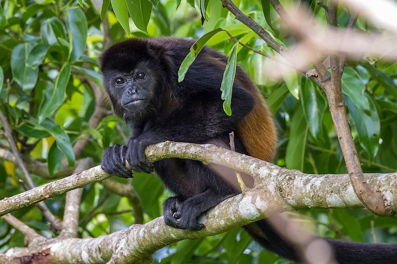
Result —
[{"label": "thick forked lichen-patched branch supporting the monkey, both limbs", "polygon": [[[146,149],[146,156],[150,161],[163,158],[189,158],[201,160],[205,164],[225,165],[252,175],[255,178],[255,188],[248,189],[244,195],[229,198],[206,213],[200,220],[206,228],[199,232],[165,226],[160,217],[147,224],[132,225],[127,230],[98,238],[48,240],[29,249],[29,254],[46,252],[46,258],[43,260],[46,263],[82,261],[98,263],[108,260],[111,260],[110,263],[149,263],[150,255],[165,245],[186,238],[218,234],[259,220],[264,215],[270,216],[291,208],[362,207],[346,174],[305,174],[208,144],[159,143],[149,146]],[[17,209],[18,203],[20,206],[25,206],[32,201],[43,199],[43,196],[52,197],[109,176],[97,166],[1,200],[0,211],[3,213],[3,208],[7,206]],[[395,173],[366,174],[365,177],[374,190],[384,195],[386,205],[396,206]],[[26,202],[26,200],[30,201]],[[20,251],[18,254],[14,253],[11,256],[21,257],[26,255],[26,251]],[[4,256],[0,255],[0,258]]]}]

